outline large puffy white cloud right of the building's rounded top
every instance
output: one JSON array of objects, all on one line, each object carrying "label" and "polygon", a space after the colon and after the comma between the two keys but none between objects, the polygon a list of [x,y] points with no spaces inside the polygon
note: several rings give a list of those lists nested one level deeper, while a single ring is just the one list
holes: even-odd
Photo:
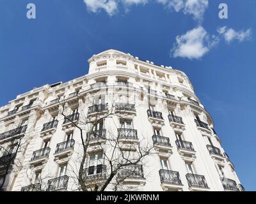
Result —
[{"label": "large puffy white cloud right of the building's rounded top", "polygon": [[170,52],[173,57],[200,59],[218,43],[217,36],[210,36],[202,26],[176,37],[176,43]]}]

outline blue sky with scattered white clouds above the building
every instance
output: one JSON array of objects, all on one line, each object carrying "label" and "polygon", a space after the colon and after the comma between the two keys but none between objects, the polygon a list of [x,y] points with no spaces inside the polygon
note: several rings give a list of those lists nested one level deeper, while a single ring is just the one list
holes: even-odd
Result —
[{"label": "blue sky with scattered white clouds above the building", "polygon": [[[192,81],[239,179],[255,191],[256,1],[196,0],[199,17],[172,1],[0,0],[0,106],[86,74],[87,59],[109,48],[172,66]],[[28,3],[36,19],[26,18]],[[220,3],[228,19],[218,18]]]}]

